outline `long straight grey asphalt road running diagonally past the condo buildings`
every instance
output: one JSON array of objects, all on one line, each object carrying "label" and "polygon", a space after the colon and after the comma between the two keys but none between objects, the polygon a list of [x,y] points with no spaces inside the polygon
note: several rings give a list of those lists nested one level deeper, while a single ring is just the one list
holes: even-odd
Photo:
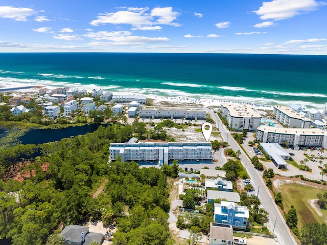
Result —
[{"label": "long straight grey asphalt road running diagonally past the condo buildings", "polygon": [[272,200],[272,196],[270,195],[270,192],[267,189],[268,187],[266,187],[266,185],[264,184],[264,181],[262,180],[262,177],[260,176],[258,170],[253,167],[250,159],[244,153],[243,149],[239,146],[239,144],[229,135],[229,131],[227,131],[225,126],[222,124],[217,114],[215,114],[211,109],[208,109],[208,112],[215,120],[216,127],[219,128],[222,137],[228,142],[228,145],[235,151],[241,151],[240,159],[251,177],[252,185],[254,186],[255,190],[258,190],[256,194],[258,194],[264,209],[269,213],[269,222],[271,227],[275,227],[274,236],[277,237],[279,244],[297,244],[290,232],[290,229],[286,225],[281,212],[279,212],[275,202]]}]

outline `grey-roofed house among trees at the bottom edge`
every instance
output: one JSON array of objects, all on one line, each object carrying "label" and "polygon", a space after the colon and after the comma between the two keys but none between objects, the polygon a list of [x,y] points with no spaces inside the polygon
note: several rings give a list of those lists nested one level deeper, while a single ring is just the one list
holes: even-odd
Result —
[{"label": "grey-roofed house among trees at the bottom edge", "polygon": [[64,238],[64,244],[90,245],[92,241],[97,241],[101,244],[103,242],[103,234],[89,232],[88,229],[86,226],[69,225],[59,235]]}]

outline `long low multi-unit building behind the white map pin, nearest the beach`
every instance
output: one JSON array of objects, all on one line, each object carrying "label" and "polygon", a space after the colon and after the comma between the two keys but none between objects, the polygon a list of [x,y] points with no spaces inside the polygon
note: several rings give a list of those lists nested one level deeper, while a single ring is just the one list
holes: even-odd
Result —
[{"label": "long low multi-unit building behind the white map pin, nearest the beach", "polygon": [[169,118],[184,120],[205,120],[206,111],[199,109],[192,110],[165,110],[165,109],[140,109],[139,118]]}]

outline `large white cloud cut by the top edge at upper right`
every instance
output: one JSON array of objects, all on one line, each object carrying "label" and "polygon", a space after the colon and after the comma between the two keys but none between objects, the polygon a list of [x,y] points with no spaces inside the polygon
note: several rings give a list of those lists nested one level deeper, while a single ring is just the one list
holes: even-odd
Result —
[{"label": "large white cloud cut by the top edge at upper right", "polygon": [[260,15],[263,20],[281,20],[314,11],[318,6],[319,3],[315,0],[272,0],[263,2],[259,10],[253,12]]}]

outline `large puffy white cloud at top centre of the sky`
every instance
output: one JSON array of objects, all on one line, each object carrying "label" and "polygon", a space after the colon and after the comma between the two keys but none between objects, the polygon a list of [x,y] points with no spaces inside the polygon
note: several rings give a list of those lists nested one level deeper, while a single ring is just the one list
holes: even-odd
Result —
[{"label": "large puffy white cloud at top centre of the sky", "polygon": [[99,26],[105,24],[126,24],[133,27],[139,26],[153,26],[153,25],[171,25],[179,26],[178,23],[173,22],[178,12],[173,12],[172,7],[154,8],[149,12],[149,8],[128,8],[114,13],[99,14],[98,18],[92,20],[92,26]]}]

